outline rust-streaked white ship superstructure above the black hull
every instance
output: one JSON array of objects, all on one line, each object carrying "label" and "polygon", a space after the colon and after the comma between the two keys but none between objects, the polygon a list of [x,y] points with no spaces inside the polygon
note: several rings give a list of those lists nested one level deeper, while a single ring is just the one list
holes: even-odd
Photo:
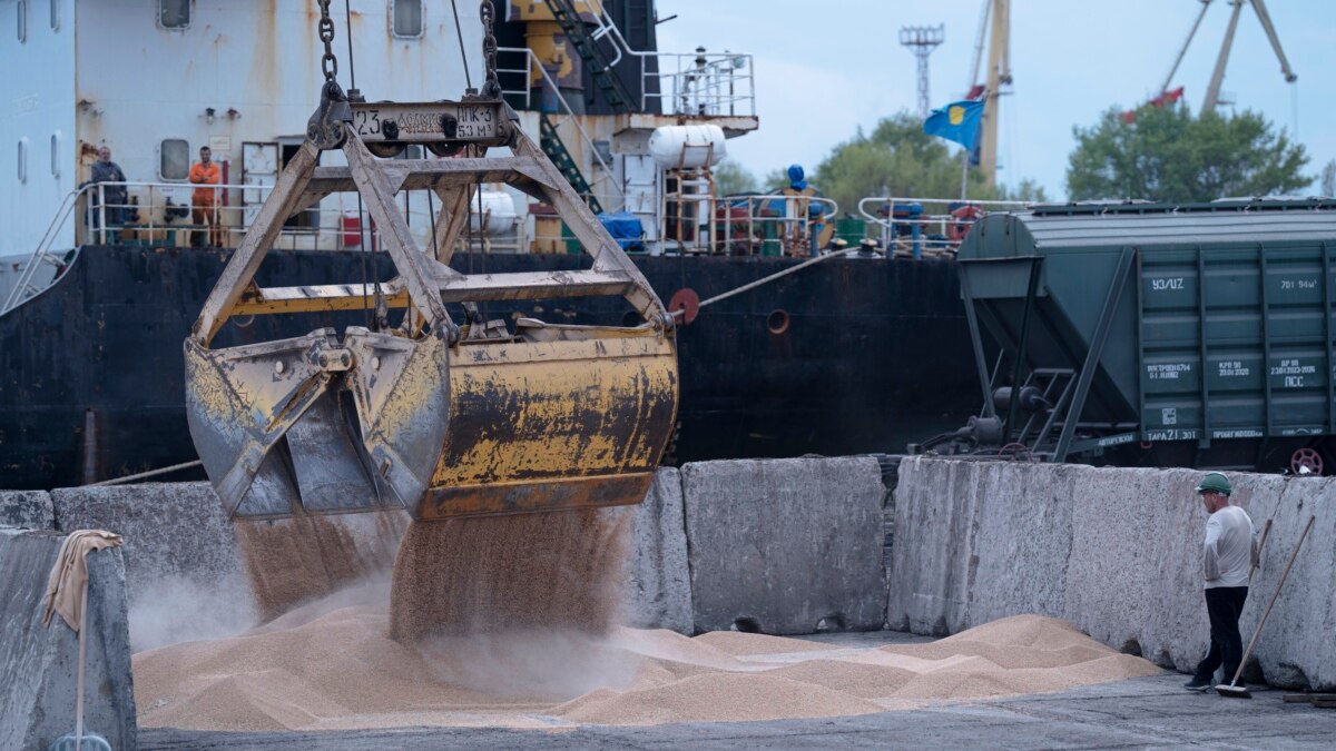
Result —
[{"label": "rust-streaked white ship superstructure above the black hull", "polygon": [[[222,174],[211,204],[222,245],[235,246],[301,144],[293,123],[317,104],[313,8],[17,0],[17,12],[0,13],[0,67],[27,71],[0,79],[0,100],[13,103],[0,115],[0,175],[15,178],[0,203],[0,283],[12,287],[40,250],[11,306],[43,289],[80,245],[172,247],[199,237],[188,174],[200,147]],[[649,1],[510,0],[497,12],[500,83],[522,130],[591,207],[639,219],[643,247],[661,249],[664,227],[683,216],[688,229],[667,234],[701,245],[693,224],[713,215],[709,167],[727,138],[758,127],[751,56],[659,52]],[[481,84],[476,8],[354,0],[346,23],[351,47],[339,78],[377,82],[378,98],[430,100]],[[103,147],[124,174],[123,192],[87,184]],[[485,237],[497,253],[565,251],[561,223],[545,208],[514,190],[488,190],[473,207],[478,237],[465,241],[481,249]],[[425,196],[407,195],[403,210],[425,233]],[[281,245],[355,249],[374,242],[367,224],[358,206],[327,199],[290,220]]]}]

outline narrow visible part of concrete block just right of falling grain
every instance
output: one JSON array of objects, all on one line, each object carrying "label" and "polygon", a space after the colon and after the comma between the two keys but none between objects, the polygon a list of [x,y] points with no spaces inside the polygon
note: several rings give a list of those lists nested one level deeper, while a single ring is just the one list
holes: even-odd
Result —
[{"label": "narrow visible part of concrete block just right of falling grain", "polygon": [[689,635],[691,569],[679,470],[671,466],[657,470],[645,501],[624,513],[633,514],[627,571],[628,625]]}]

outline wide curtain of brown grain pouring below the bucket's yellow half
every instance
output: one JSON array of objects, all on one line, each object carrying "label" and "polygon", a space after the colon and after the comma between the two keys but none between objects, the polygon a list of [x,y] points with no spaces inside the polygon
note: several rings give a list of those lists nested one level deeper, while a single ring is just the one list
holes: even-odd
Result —
[{"label": "wide curtain of brown grain pouring below the bucket's yellow half", "polygon": [[604,633],[621,605],[629,522],[596,509],[413,522],[394,561],[390,635]]}]

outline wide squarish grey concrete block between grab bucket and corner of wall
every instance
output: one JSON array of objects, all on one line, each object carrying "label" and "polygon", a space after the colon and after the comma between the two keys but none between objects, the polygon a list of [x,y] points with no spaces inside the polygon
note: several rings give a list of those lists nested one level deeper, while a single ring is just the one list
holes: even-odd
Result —
[{"label": "wide squarish grey concrete block between grab bucket and corner of wall", "polygon": [[876,460],[688,464],[681,485],[697,631],[882,627]]}]

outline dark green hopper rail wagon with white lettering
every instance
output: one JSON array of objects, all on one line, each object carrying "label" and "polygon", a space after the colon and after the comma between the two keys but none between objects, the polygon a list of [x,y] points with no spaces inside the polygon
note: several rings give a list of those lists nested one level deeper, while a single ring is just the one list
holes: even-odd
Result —
[{"label": "dark green hopper rail wagon with white lettering", "polygon": [[994,214],[959,250],[982,410],[911,450],[1320,473],[1336,200]]}]

